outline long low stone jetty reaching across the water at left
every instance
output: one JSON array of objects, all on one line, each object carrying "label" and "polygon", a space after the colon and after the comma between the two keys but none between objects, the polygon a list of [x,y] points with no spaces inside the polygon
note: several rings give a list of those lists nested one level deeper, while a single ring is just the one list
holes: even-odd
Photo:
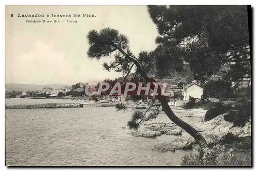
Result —
[{"label": "long low stone jetty reaching across the water at left", "polygon": [[80,103],[46,103],[46,104],[17,104],[5,105],[5,109],[40,109],[40,108],[82,108]]}]

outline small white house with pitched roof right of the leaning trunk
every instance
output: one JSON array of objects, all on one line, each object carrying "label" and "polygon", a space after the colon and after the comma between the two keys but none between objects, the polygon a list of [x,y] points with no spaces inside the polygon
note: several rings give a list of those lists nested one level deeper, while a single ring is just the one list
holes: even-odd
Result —
[{"label": "small white house with pitched roof right of the leaning trunk", "polygon": [[189,100],[189,96],[200,99],[203,95],[203,90],[204,89],[195,82],[183,86],[183,100]]}]

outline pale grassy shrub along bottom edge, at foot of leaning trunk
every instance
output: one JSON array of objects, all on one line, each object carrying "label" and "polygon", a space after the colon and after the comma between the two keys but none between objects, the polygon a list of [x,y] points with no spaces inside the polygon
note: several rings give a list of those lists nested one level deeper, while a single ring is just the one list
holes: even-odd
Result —
[{"label": "pale grassy shrub along bottom edge, at foot of leaning trunk", "polygon": [[248,153],[234,153],[232,148],[221,145],[212,147],[204,157],[199,153],[182,157],[182,166],[250,166],[251,156]]}]

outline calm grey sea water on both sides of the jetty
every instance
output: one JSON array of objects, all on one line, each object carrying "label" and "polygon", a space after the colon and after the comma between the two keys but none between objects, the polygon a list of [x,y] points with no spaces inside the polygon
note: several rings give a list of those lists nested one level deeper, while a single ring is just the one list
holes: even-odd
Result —
[{"label": "calm grey sea water on both sides of the jetty", "polygon": [[[6,99],[6,104],[40,104],[51,100]],[[179,165],[181,157],[191,153],[152,151],[154,144],[176,136],[133,137],[126,126],[132,113],[132,109],[117,112],[101,107],[6,110],[6,164],[165,166]],[[160,114],[157,121],[169,120]]]}]

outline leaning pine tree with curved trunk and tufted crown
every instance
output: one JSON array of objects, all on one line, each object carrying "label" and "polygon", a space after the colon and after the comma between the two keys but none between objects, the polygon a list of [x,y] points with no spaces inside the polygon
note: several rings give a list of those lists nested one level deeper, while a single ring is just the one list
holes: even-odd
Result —
[{"label": "leaning pine tree with curved trunk and tufted crown", "polygon": [[[140,60],[140,58],[136,58],[133,55],[132,51],[129,49],[129,40],[125,35],[120,34],[117,30],[104,28],[100,32],[97,32],[96,30],[91,30],[88,33],[87,38],[90,45],[90,48],[88,50],[88,56],[90,58],[100,59],[113,53],[114,60],[110,63],[103,63],[103,67],[106,70],[115,70],[116,72],[122,72],[124,75],[128,75],[131,72],[132,68],[135,67],[136,73],[141,78],[141,81],[144,81],[145,83],[150,82],[151,89],[154,90],[156,86],[156,81],[148,77],[146,73],[148,66],[146,66],[145,63]],[[171,52],[167,48],[159,48],[157,50],[157,53],[159,54],[161,51],[165,51],[166,55],[168,52]],[[181,53],[184,52],[181,51]],[[177,60],[177,62],[181,63],[180,60]],[[161,63],[158,64],[161,65]],[[173,65],[170,67],[170,69],[179,71],[181,68],[179,67],[179,65]],[[168,118],[176,123],[178,126],[180,126],[182,129],[184,129],[186,132],[188,132],[191,136],[193,136],[200,145],[201,149],[205,151],[205,149],[207,149],[208,147],[203,136],[193,127],[191,127],[189,124],[187,124],[174,114],[174,112],[170,109],[167,103],[166,97],[162,96],[159,90],[160,86],[158,86],[159,95],[153,99],[152,104],[154,104],[155,99],[158,99],[162,105],[163,111],[168,116]],[[142,120],[144,116],[145,114],[141,115],[135,113],[133,115],[133,119],[129,121],[129,126],[135,128],[138,127],[138,124],[140,123],[140,121],[138,122],[138,119]]]}]

